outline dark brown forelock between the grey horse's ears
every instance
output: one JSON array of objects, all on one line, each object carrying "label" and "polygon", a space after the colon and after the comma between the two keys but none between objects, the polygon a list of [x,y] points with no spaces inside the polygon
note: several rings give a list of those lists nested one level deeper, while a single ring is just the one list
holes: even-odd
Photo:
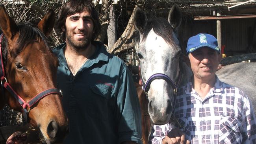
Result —
[{"label": "dark brown forelock between the grey horse's ears", "polygon": [[171,46],[173,45],[173,28],[167,20],[161,17],[152,18],[147,22],[147,26],[143,33],[142,41],[145,41],[148,33],[150,32],[150,30],[152,30],[152,28],[157,35],[161,36],[165,40],[165,42],[167,42]]}]

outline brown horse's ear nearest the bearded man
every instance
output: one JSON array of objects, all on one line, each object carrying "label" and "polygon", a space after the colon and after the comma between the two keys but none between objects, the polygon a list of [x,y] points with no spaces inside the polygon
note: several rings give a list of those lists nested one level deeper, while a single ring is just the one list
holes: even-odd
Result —
[{"label": "brown horse's ear nearest the bearded man", "polygon": [[41,30],[46,36],[50,35],[54,27],[55,22],[55,13],[53,9],[50,9],[46,13],[45,17],[38,23],[37,27]]}]

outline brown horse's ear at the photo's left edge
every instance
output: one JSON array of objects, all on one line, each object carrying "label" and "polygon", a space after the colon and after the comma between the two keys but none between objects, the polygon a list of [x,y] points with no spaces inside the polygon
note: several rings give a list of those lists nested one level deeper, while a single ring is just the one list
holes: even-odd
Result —
[{"label": "brown horse's ear at the photo's left edge", "polygon": [[0,27],[8,40],[19,31],[16,22],[8,15],[4,6],[0,7]]}]

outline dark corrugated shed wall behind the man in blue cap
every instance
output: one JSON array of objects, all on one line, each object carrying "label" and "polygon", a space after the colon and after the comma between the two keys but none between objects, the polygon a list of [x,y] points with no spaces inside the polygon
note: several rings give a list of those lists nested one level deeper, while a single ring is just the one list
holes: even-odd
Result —
[{"label": "dark corrugated shed wall behind the man in blue cap", "polygon": [[[222,46],[224,53],[228,55],[247,53],[252,39],[256,18],[237,18],[221,20]],[[216,20],[188,20],[182,22],[179,29],[181,47],[186,50],[187,40],[198,33],[210,33],[216,35]],[[255,36],[254,36],[255,37]]]}]

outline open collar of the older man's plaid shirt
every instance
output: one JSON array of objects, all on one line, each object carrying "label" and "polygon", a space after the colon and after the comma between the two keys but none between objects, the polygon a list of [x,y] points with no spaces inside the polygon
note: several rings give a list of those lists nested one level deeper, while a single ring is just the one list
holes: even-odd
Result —
[{"label": "open collar of the older man's plaid shirt", "polygon": [[[215,84],[214,84],[214,87],[212,87],[211,90],[210,90],[210,95],[213,96],[214,93],[219,93],[219,92],[222,92],[222,91],[223,91],[223,82],[221,82],[219,80],[219,78],[215,75]],[[189,80],[189,82],[185,86],[185,92],[186,92],[186,94],[197,94],[197,92],[193,88],[191,79]],[[209,93],[207,94],[206,97],[208,97],[208,96],[209,96]]]}]

